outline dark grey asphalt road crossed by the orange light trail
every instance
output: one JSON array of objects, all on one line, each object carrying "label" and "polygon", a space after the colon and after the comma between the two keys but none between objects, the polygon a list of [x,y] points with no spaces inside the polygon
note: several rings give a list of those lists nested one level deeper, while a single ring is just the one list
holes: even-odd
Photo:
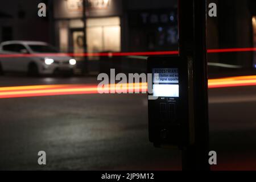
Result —
[{"label": "dark grey asphalt road crossed by the orange light trail", "polygon": [[[86,84],[96,78],[0,77],[1,86]],[[212,169],[256,170],[256,86],[209,90]],[[175,149],[147,138],[145,94],[0,100],[0,169],[179,170]],[[38,165],[38,151],[47,165]]]}]

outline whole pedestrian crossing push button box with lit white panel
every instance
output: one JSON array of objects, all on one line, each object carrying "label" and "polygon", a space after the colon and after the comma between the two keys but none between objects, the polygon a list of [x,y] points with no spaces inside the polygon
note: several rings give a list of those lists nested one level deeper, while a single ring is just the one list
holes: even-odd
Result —
[{"label": "whole pedestrian crossing push button box with lit white panel", "polygon": [[181,57],[149,57],[149,139],[155,146],[188,146],[188,63]]}]

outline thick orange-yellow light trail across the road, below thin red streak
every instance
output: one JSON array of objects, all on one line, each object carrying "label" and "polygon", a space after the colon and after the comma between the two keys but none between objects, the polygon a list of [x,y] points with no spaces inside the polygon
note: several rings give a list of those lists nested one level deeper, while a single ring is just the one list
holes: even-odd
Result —
[{"label": "thick orange-yellow light trail across the road, below thin red streak", "polygon": [[[235,86],[256,86],[255,76],[238,76],[208,80],[208,88],[227,88]],[[98,85],[32,85],[32,86],[11,86],[0,87],[0,98],[19,98],[19,97],[39,97],[39,96],[61,96],[75,94],[98,94],[104,92],[106,94],[113,91],[121,93],[123,91],[137,90],[140,93],[147,92],[147,83],[134,84],[110,84],[103,88]]]}]

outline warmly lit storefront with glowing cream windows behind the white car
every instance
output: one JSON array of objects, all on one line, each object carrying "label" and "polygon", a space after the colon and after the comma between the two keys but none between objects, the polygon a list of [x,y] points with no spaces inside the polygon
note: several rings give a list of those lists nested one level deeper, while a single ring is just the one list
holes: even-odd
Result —
[{"label": "warmly lit storefront with glowing cream windows behind the white car", "polygon": [[87,0],[85,16],[82,5],[82,0],[54,1],[55,37],[61,51],[121,51],[122,1]]}]

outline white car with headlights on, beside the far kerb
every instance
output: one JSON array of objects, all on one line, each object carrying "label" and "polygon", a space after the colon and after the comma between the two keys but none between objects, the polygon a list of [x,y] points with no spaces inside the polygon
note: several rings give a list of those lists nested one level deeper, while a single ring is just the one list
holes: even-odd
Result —
[{"label": "white car with headlights on, beside the far kerb", "polygon": [[73,73],[76,60],[66,54],[60,56],[55,53],[58,53],[56,49],[44,42],[3,42],[0,44],[0,72],[27,72],[31,76]]}]

